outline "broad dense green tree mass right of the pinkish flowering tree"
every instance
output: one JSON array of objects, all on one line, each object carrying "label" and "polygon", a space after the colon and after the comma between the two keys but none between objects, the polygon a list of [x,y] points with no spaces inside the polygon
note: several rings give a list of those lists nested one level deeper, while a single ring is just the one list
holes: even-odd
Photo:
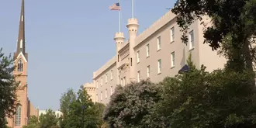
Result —
[{"label": "broad dense green tree mass right of the pinkish flowering tree", "polygon": [[204,66],[196,69],[191,56],[188,64],[188,73],[160,83],[163,100],[155,115],[163,119],[162,127],[256,127],[255,89],[247,81],[251,74],[226,69],[209,73]]}]

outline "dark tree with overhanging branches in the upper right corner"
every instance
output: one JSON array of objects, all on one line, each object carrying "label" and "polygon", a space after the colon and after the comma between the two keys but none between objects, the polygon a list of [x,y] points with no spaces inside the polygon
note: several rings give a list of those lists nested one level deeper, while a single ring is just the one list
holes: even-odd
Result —
[{"label": "dark tree with overhanging branches in the upper right corner", "polygon": [[[255,61],[256,0],[177,0],[174,12],[187,43],[189,25],[204,16],[212,19],[213,26],[204,32],[205,42],[213,50],[220,48],[226,55],[227,68],[234,71],[253,71]],[[251,77],[251,84],[254,78]]]}]

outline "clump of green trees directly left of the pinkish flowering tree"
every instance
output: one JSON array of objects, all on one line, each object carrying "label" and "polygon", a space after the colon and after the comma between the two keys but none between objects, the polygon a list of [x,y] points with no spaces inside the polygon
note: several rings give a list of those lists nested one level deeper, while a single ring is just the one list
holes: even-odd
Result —
[{"label": "clump of green trees directly left of the pinkish flowering tree", "polygon": [[[104,123],[102,111],[105,106],[101,103],[93,103],[85,88],[81,86],[78,93],[68,89],[61,97],[62,128],[98,128]],[[82,122],[84,120],[84,122]]]}]

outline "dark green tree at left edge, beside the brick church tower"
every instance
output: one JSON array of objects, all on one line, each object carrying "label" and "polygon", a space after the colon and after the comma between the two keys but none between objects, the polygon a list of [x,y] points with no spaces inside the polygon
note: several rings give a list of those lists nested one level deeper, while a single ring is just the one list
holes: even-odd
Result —
[{"label": "dark green tree at left edge, beside the brick church tower", "polygon": [[15,66],[11,55],[6,57],[0,49],[0,127],[6,126],[6,117],[12,117],[15,113],[17,102],[16,91],[19,83],[12,75]]}]

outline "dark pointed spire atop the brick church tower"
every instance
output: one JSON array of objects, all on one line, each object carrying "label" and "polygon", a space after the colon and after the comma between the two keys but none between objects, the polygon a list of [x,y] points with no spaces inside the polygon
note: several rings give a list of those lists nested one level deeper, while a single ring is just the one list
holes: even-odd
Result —
[{"label": "dark pointed spire atop the brick church tower", "polygon": [[17,50],[16,55],[18,55],[20,52],[22,54],[26,54],[25,50],[25,10],[24,10],[24,0],[22,0],[21,5],[21,12],[20,12],[20,18],[19,18],[19,36],[17,41]]}]

